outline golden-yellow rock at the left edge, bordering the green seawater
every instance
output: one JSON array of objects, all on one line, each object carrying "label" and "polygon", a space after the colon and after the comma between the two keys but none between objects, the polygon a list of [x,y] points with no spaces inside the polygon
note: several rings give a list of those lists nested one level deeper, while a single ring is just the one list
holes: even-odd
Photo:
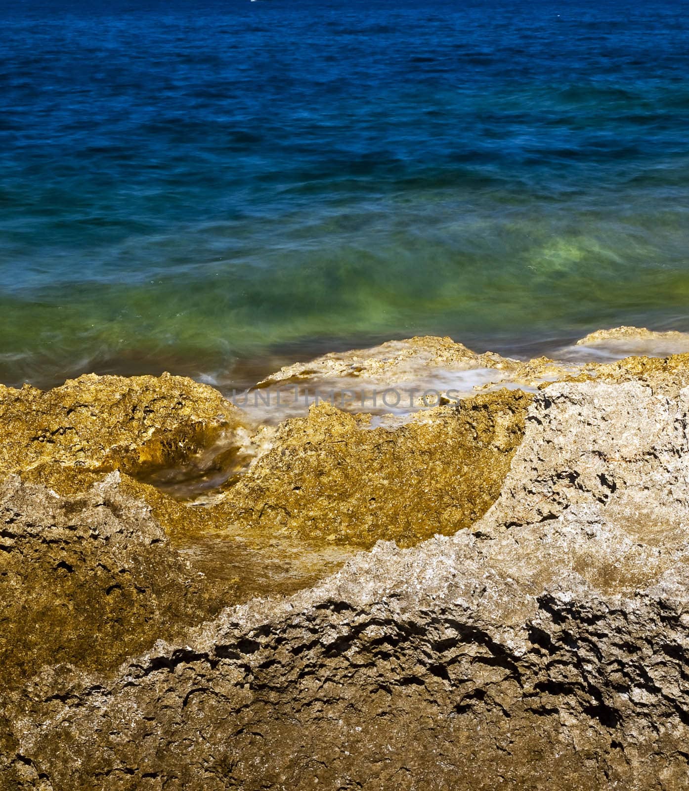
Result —
[{"label": "golden-yellow rock at the left edge, bordering the green seawater", "polygon": [[47,460],[142,475],[184,462],[240,424],[217,390],[169,374],[89,374],[47,392],[0,385],[0,475]]}]

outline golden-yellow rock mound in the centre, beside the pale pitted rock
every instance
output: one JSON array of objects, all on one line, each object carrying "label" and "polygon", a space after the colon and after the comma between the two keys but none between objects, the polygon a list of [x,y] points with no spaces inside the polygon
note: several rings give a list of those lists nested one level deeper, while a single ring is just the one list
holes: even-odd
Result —
[{"label": "golden-yellow rock mound in the centre, beside the pale pitted rock", "polygon": [[216,509],[254,528],[361,547],[452,534],[497,498],[531,401],[521,391],[478,395],[393,430],[322,403],[283,423]]}]

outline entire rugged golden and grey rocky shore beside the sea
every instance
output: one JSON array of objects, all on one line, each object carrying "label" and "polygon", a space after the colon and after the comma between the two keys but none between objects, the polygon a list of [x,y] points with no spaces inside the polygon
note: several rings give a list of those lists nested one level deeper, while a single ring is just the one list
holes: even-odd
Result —
[{"label": "entire rugged golden and grey rocky shore beside the sea", "polygon": [[689,354],[614,359],[679,335],[326,355],[259,391],[496,376],[277,427],[0,390],[2,788],[687,788]]}]

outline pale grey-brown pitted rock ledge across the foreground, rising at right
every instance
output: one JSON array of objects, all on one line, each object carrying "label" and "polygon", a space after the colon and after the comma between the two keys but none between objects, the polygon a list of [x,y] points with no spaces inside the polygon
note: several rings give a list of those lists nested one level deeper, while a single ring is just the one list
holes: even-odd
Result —
[{"label": "pale grey-brown pitted rock ledge across the foreground, rising at right", "polygon": [[687,788],[686,377],[630,362],[543,388],[498,500],[454,536],[377,543],[114,670],[37,663],[3,699],[3,782]]}]

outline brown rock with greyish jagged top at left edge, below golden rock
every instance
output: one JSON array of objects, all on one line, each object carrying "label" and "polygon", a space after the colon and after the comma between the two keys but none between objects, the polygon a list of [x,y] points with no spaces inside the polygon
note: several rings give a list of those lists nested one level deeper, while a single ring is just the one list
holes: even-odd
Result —
[{"label": "brown rock with greyish jagged top at left edge, below golden rock", "polygon": [[218,610],[150,508],[119,484],[111,473],[74,498],[16,475],[0,486],[4,689],[46,665],[115,668]]}]

